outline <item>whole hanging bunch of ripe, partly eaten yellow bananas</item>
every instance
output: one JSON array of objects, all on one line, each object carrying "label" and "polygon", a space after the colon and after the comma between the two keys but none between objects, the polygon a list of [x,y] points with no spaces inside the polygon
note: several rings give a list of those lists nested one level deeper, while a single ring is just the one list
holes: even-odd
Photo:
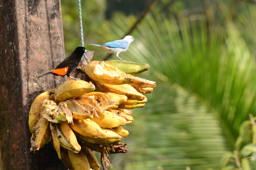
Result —
[{"label": "whole hanging bunch of ripe, partly eaten yellow bananas", "polygon": [[[92,61],[84,66],[83,79],[39,94],[29,112],[30,152],[52,143],[70,170],[111,167],[109,154],[128,152],[120,142],[129,135],[123,126],[134,120],[127,109],[143,107],[144,94],[156,87],[135,77],[148,69],[146,63]],[[91,150],[100,152],[101,164]]]}]

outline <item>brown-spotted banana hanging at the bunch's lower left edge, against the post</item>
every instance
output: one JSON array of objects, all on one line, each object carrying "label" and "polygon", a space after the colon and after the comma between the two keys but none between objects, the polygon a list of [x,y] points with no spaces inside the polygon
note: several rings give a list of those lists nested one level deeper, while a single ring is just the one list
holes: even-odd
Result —
[{"label": "brown-spotted banana hanging at the bunch's lower left edge, against the post", "polygon": [[32,137],[30,139],[31,148],[30,152],[36,152],[49,141],[51,137],[50,122],[48,122],[43,117],[36,123],[35,128],[32,132]]}]

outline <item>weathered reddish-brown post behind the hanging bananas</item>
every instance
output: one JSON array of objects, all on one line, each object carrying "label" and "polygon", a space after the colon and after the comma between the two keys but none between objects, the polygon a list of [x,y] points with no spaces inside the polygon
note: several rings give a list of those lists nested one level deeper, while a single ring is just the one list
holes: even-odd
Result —
[{"label": "weathered reddish-brown post behind the hanging bananas", "polygon": [[[64,56],[60,0],[0,0],[0,149],[2,170],[67,169],[51,144],[30,153],[28,113],[38,94],[54,88],[52,70]],[[61,80],[62,81],[62,80]]]}]

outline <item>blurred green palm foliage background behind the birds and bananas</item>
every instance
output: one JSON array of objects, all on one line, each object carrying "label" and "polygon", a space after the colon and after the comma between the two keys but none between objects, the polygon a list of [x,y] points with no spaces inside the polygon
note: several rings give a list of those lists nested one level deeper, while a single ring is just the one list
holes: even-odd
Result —
[{"label": "blurred green palm foliage background behind the birds and bananas", "polygon": [[[84,44],[129,33],[136,41],[119,56],[148,63],[139,77],[157,82],[147,104],[132,109],[122,140],[129,152],[110,155],[112,170],[256,169],[256,130],[243,125],[256,116],[255,3],[81,0]],[[61,6],[67,56],[80,46],[77,1]],[[93,60],[107,56],[85,47]]]}]

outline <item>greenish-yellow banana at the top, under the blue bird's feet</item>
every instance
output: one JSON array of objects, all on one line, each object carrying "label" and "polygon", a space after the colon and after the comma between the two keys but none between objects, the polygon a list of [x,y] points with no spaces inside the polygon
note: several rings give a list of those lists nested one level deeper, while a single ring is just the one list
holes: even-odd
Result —
[{"label": "greenish-yellow banana at the top, under the blue bird's feet", "polygon": [[143,63],[138,64],[129,61],[119,61],[119,60],[107,60],[105,63],[117,67],[119,70],[124,71],[126,74],[131,74],[136,76],[149,69],[149,64]]}]

